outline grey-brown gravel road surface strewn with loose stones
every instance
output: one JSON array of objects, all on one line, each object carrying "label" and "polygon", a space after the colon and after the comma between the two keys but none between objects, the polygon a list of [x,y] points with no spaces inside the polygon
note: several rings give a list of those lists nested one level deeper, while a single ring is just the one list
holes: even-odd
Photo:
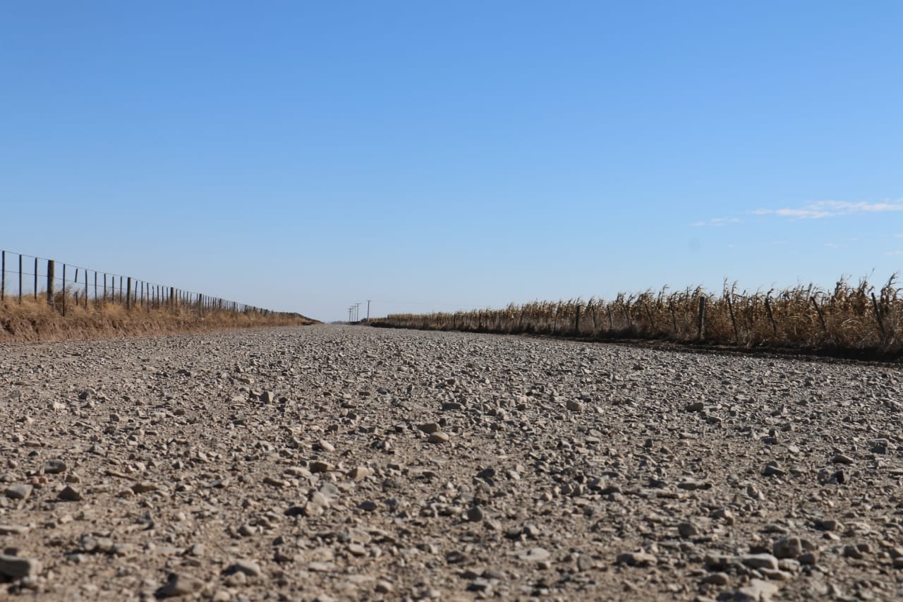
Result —
[{"label": "grey-brown gravel road surface strewn with loose stones", "polygon": [[899,366],[307,326],[0,346],[42,599],[900,599]]}]

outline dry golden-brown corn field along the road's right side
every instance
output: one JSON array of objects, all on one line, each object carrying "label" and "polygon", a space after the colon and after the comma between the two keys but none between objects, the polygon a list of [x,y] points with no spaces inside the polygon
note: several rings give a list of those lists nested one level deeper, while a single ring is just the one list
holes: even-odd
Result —
[{"label": "dry golden-brown corn field along the road's right side", "polygon": [[660,339],[746,348],[794,348],[896,355],[903,351],[903,299],[897,275],[876,289],[846,278],[833,291],[812,285],[720,295],[702,287],[619,294],[614,300],[534,301],[504,309],[388,315],[371,325],[587,339]]}]

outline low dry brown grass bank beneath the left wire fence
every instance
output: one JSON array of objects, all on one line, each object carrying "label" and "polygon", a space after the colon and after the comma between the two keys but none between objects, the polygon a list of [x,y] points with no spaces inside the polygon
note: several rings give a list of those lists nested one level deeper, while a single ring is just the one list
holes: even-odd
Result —
[{"label": "low dry brown grass bank beneath the left wire fence", "polygon": [[177,334],[228,330],[254,326],[310,325],[315,320],[299,314],[232,312],[197,306],[175,308],[133,306],[126,309],[120,303],[95,302],[76,305],[74,296],[67,296],[66,315],[61,313],[62,296],[57,294],[54,307],[45,295],[7,296],[0,304],[0,343],[23,341],[54,341],[61,339],[103,338],[146,334]]}]

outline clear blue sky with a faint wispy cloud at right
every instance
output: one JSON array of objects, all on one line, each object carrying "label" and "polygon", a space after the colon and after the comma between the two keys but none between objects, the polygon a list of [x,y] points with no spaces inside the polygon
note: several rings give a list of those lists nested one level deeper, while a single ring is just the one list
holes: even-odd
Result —
[{"label": "clear blue sky with a faint wispy cloud at right", "polygon": [[877,284],[901,31],[896,0],[7,2],[0,248],[325,321]]}]

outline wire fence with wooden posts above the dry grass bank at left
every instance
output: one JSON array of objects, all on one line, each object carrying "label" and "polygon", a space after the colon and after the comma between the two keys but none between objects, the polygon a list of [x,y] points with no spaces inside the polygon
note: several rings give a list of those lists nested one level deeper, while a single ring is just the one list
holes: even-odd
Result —
[{"label": "wire fence with wooden posts above the dry grass bank at left", "polygon": [[126,309],[163,309],[275,315],[219,296],[209,296],[183,288],[148,282],[94,269],[82,268],[0,249],[0,307],[9,303],[46,300],[62,315],[73,307],[100,307],[119,304]]}]

